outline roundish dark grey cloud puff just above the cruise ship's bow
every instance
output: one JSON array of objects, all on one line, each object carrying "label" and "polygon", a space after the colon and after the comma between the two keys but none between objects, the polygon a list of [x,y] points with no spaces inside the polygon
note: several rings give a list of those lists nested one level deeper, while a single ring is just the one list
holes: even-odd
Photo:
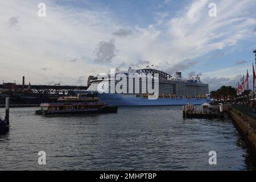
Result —
[{"label": "roundish dark grey cloud puff just above the cruise ship's bow", "polygon": [[115,40],[111,39],[109,42],[100,42],[96,46],[94,53],[96,58],[93,60],[94,63],[111,63],[113,58],[116,56],[117,48],[115,47]]}]

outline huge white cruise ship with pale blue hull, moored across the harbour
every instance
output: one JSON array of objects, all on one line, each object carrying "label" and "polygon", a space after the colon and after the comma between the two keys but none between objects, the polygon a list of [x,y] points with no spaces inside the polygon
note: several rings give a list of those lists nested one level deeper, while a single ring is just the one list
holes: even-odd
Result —
[{"label": "huge white cruise ship with pale blue hull, moored across the harbour", "polygon": [[[125,84],[121,86],[119,82],[124,78],[117,79],[120,74],[127,76]],[[148,79],[151,79],[151,84],[154,85],[156,78],[158,78],[157,96],[148,90]],[[207,98],[209,85],[202,83],[199,76],[183,78],[181,72],[171,76],[149,67],[137,70],[130,67],[128,71],[115,68],[114,72],[93,77],[89,85],[86,92],[98,93],[100,101],[116,106],[201,105],[209,100]],[[117,92],[112,86],[129,88],[129,92]]]}]

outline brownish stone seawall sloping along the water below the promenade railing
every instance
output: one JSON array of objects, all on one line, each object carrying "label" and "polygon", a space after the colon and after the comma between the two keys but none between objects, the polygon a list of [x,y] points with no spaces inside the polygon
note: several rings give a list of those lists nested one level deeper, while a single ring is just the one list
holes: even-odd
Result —
[{"label": "brownish stone seawall sloping along the water below the promenade railing", "polygon": [[254,157],[256,157],[256,119],[233,108],[230,108],[228,113],[246,143],[253,150]]}]

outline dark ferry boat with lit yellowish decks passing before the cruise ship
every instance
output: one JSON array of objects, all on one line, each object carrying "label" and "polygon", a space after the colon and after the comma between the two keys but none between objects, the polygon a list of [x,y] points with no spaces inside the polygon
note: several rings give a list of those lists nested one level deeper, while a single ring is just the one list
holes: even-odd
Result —
[{"label": "dark ferry boat with lit yellowish decks passing before the cruise ship", "polygon": [[84,93],[77,94],[77,97],[60,97],[57,102],[42,103],[41,109],[35,114],[89,114],[89,113],[117,113],[118,107],[107,105],[101,102],[97,94]]}]

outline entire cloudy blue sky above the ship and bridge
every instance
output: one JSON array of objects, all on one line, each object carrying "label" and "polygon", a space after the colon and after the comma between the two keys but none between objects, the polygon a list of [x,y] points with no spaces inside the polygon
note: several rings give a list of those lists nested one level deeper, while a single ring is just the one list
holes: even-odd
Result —
[{"label": "entire cloudy blue sky above the ship and bridge", "polygon": [[0,79],[86,85],[110,68],[154,65],[200,75],[210,90],[236,86],[255,63],[255,8],[254,0],[1,1]]}]

